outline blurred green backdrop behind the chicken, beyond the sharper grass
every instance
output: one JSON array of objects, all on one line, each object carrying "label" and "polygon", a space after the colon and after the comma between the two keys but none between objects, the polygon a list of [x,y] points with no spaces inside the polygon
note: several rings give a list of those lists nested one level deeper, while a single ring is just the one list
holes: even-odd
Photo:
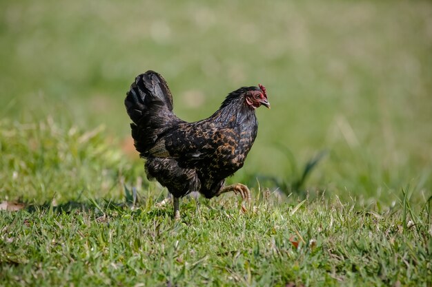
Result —
[{"label": "blurred green backdrop behind the chicken, beyond the sharper grass", "polygon": [[[66,131],[104,125],[127,151],[124,96],[146,70],[166,78],[189,121],[238,87],[266,86],[272,109],[257,110],[257,140],[233,180],[289,193],[327,151],[302,193],[366,204],[391,204],[407,187],[413,200],[431,195],[430,1],[0,3],[5,133],[46,118]],[[144,174],[137,154],[128,160]]]}]

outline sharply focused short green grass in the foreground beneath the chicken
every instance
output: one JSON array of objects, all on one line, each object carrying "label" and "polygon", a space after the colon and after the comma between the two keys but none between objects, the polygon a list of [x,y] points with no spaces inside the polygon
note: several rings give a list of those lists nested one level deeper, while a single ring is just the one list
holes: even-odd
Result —
[{"label": "sharply focused short green grass in the foreground beneath the chicken", "polygon": [[[86,210],[3,214],[4,286],[428,286],[430,214],[403,225],[401,206],[377,213],[274,195],[242,214],[235,201],[172,210],[87,204]],[[297,245],[298,244],[298,245]]]}]

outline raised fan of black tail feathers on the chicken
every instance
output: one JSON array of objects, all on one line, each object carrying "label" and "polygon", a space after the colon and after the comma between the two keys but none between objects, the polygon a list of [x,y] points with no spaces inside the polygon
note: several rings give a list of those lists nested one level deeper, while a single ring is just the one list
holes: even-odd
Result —
[{"label": "raised fan of black tail feathers on the chicken", "polygon": [[173,114],[173,96],[165,79],[157,72],[147,71],[135,78],[124,100],[132,120],[132,138],[141,156],[155,145],[159,136],[169,127],[181,122]]}]

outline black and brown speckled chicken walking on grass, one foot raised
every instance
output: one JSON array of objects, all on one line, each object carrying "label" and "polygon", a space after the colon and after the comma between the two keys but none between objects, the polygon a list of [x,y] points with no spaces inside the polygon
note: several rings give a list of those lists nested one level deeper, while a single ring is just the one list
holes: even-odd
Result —
[{"label": "black and brown speckled chicken walking on grass, one foot raised", "polygon": [[173,195],[175,219],[180,218],[179,198],[192,191],[206,198],[234,191],[243,200],[251,199],[244,184],[224,182],[243,166],[255,141],[255,109],[270,109],[264,86],[241,87],[228,94],[212,116],[188,123],[173,113],[165,79],[148,71],[135,78],[124,103],[133,122],[135,148],[146,159],[147,178]]}]

